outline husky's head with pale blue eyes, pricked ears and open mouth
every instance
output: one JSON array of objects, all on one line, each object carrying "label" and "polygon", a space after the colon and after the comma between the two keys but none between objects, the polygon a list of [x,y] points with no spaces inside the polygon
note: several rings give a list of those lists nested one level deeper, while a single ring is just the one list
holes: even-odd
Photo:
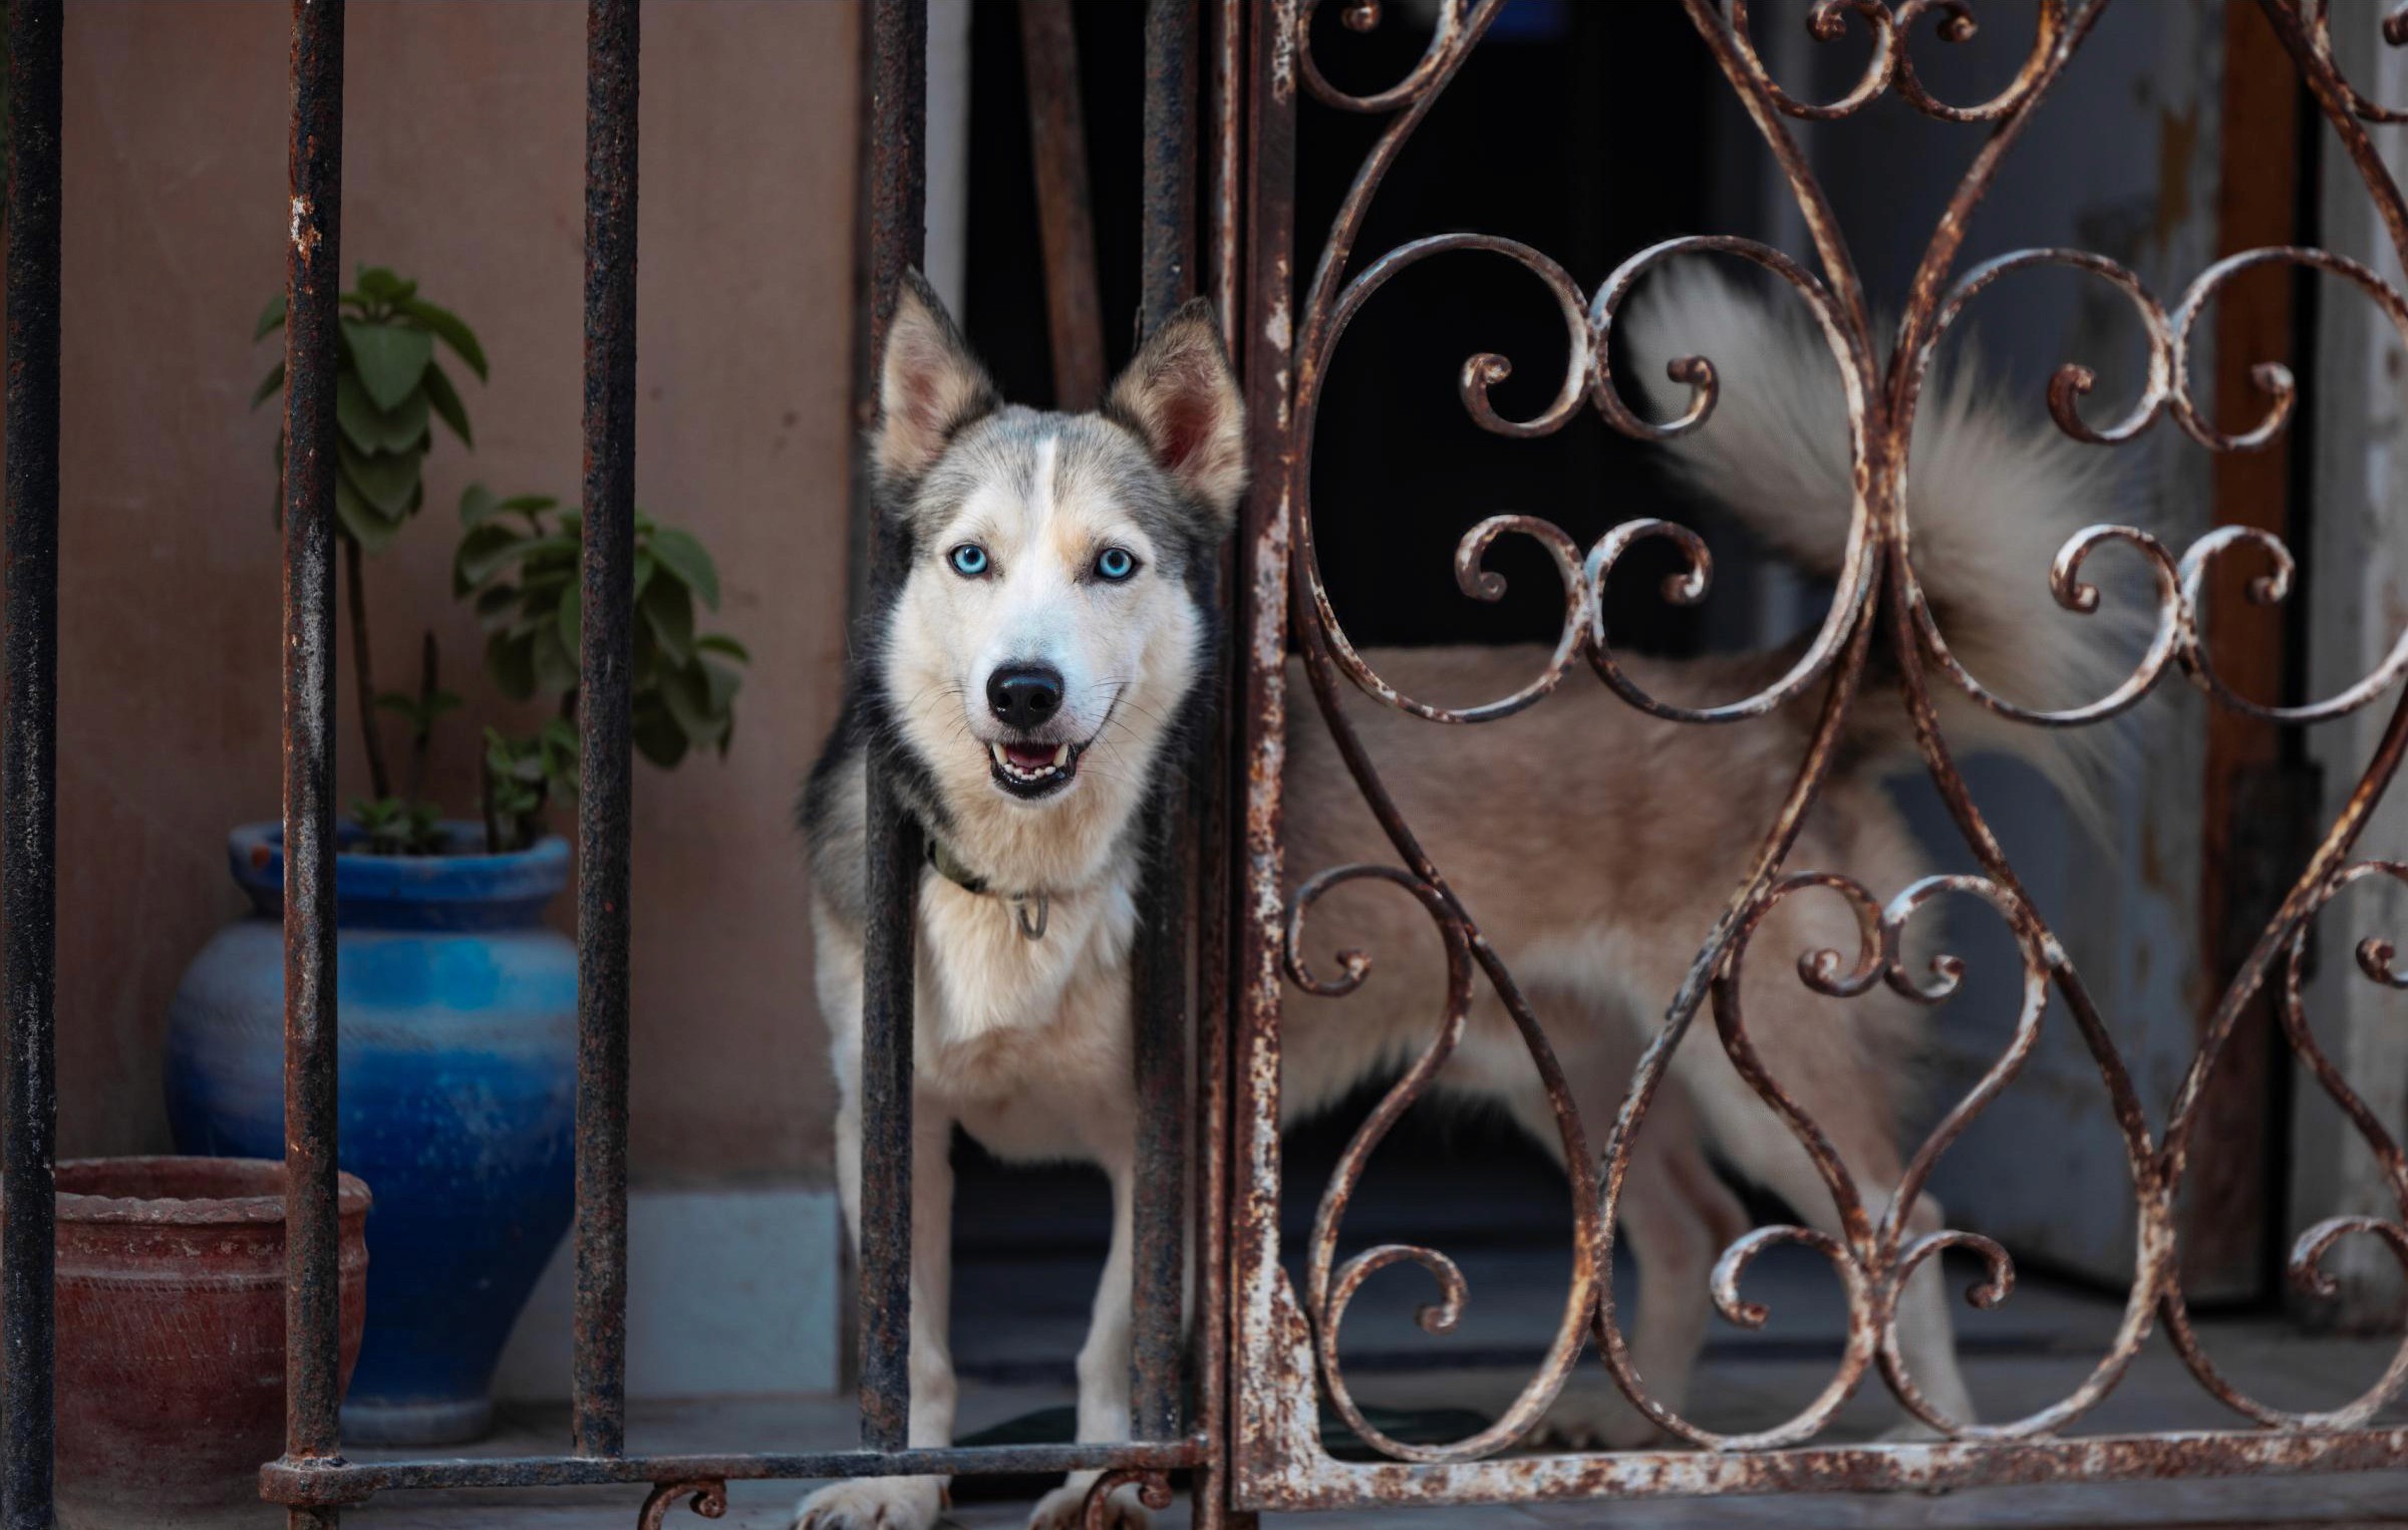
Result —
[{"label": "husky's head with pale blue eyes, pricked ears and open mouth", "polygon": [[1165,323],[1103,410],[1055,414],[1002,405],[910,282],[872,451],[886,532],[910,547],[884,626],[886,701],[946,817],[1011,834],[995,810],[1125,812],[1199,677],[1197,576],[1245,484],[1211,311]]}]

